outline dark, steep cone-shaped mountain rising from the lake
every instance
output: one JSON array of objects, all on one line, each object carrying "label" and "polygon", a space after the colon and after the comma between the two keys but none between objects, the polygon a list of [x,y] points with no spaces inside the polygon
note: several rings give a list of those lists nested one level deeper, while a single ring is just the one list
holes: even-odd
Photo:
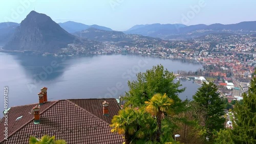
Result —
[{"label": "dark, steep cone-shaped mountain rising from the lake", "polygon": [[4,50],[30,50],[55,53],[78,38],[63,30],[49,16],[31,11],[16,27]]}]

